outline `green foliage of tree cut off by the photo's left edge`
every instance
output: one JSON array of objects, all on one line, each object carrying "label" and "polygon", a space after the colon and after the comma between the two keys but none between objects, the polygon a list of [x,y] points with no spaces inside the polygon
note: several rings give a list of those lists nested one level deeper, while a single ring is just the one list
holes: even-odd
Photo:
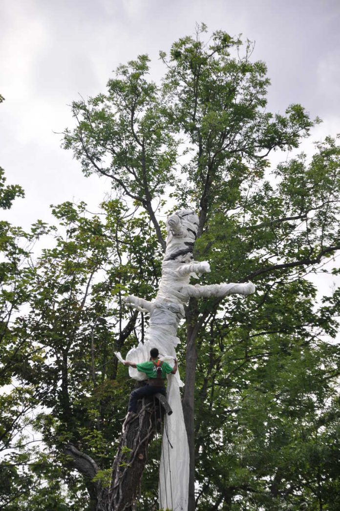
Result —
[{"label": "green foliage of tree cut off by the photo's left edge", "polygon": [[[0,208],[8,210],[17,197],[24,197],[24,191],[19,185],[6,185],[0,168]],[[43,391],[39,385],[31,385],[31,364],[39,355],[20,313],[29,307],[32,296],[30,251],[47,231],[39,221],[29,233],[0,221],[0,508],[8,510],[18,509],[20,500],[26,502],[28,495],[37,491],[43,477],[34,467],[46,467],[46,460],[34,447],[36,441],[28,434]],[[38,501],[38,495],[33,500]]]}]

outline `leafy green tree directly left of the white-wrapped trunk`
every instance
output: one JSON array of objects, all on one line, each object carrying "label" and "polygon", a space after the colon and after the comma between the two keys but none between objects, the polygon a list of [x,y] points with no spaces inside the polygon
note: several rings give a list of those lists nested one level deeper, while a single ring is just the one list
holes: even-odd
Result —
[{"label": "leafy green tree directly left of the white-wrapped trunk", "polygon": [[[26,281],[30,310],[16,318],[19,339],[30,340],[26,374],[20,377],[39,392],[29,401],[32,408],[39,404],[29,426],[40,433],[42,452],[26,451],[22,463],[7,457],[5,465],[9,470],[25,461],[31,467],[30,489],[39,488],[30,501],[32,509],[46,497],[41,482],[46,478],[55,481],[49,484],[49,509],[83,508],[84,491],[89,508],[95,509],[108,484],[130,392],[126,375],[122,379],[117,373],[113,351],[129,336],[131,346],[137,331],[144,331],[141,315],[126,311],[123,317],[121,293],[127,281],[132,287],[135,282],[136,292],[152,292],[154,270],[143,270],[142,260],[152,250],[156,257],[157,242],[145,221],[132,217],[118,199],[102,204],[99,215],[89,214],[84,203],[67,202],[54,207],[53,214],[59,232],[53,228],[54,246],[36,258]],[[137,266],[139,271],[134,270]],[[93,473],[83,463],[83,453],[96,460]],[[59,498],[65,485],[69,490]],[[15,504],[24,509],[25,500],[19,497],[19,492],[13,497]]]}]

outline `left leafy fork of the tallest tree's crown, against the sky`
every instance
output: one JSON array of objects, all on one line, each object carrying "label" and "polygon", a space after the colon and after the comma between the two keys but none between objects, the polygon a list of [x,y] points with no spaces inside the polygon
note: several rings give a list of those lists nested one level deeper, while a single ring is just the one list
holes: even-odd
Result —
[{"label": "left leafy fork of the tallest tree's crown, against the sky", "polygon": [[107,83],[106,95],[91,98],[88,104],[74,102],[78,127],[66,130],[64,138],[64,147],[74,150],[85,175],[111,177],[116,189],[123,186],[143,206],[174,182],[177,145],[167,129],[157,86],[146,79],[148,62],[140,55],[119,66],[117,78]]}]

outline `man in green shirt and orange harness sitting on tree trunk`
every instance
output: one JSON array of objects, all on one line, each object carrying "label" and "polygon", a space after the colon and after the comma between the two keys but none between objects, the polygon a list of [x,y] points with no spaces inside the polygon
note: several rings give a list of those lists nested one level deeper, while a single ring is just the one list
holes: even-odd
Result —
[{"label": "man in green shirt and orange harness sitting on tree trunk", "polygon": [[170,373],[175,375],[177,373],[177,359],[174,359],[174,367],[172,368],[167,362],[158,359],[159,352],[157,348],[150,350],[150,360],[135,364],[128,360],[124,362],[125,365],[137,368],[141,373],[145,373],[148,377],[148,383],[143,387],[132,390],[128,405],[129,417],[133,417],[137,412],[137,401],[143,396],[153,396],[157,392],[166,396],[165,378]]}]

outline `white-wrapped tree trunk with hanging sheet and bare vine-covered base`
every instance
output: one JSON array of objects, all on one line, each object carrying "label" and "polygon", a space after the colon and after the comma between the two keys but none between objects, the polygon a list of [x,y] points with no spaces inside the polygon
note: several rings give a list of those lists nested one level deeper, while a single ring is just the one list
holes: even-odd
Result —
[{"label": "white-wrapped tree trunk with hanging sheet and bare vine-covered base", "polygon": [[[145,342],[130,350],[126,359],[135,363],[149,359],[150,349],[156,347],[160,358],[168,362],[176,357],[175,347],[179,339],[177,327],[185,317],[185,305],[191,297],[223,297],[230,294],[248,295],[255,291],[252,283],[247,284],[214,284],[210,286],[190,285],[190,277],[209,272],[209,263],[193,260],[193,247],[196,240],[198,217],[190,210],[180,210],[168,217],[166,252],[162,265],[162,279],[154,300],[147,301],[136,296],[128,296],[126,303],[150,314],[149,328],[145,332]],[[120,354],[119,354],[120,355]],[[136,380],[146,376],[137,369],[129,367],[129,374]],[[179,373],[168,376],[168,401],[173,414],[167,421],[167,438],[163,439],[162,465],[160,474],[160,500],[167,501],[167,487],[172,486],[171,508],[173,511],[187,511],[189,487],[189,458],[193,452],[193,434],[190,437],[190,451],[187,429],[193,423],[193,399],[190,403],[190,421],[184,422],[179,387],[183,386]],[[132,509],[132,501],[138,494],[140,480],[145,464],[146,448],[152,436],[152,413],[142,408],[139,419],[131,424],[126,421],[121,438],[120,448],[112,469],[109,490],[109,511]],[[188,431],[189,433],[189,431]],[[193,433],[193,432],[192,432]],[[173,449],[167,453],[165,446],[168,440]],[[132,447],[129,447],[132,446]],[[132,451],[129,451],[132,449]],[[127,456],[128,453],[133,453]],[[140,457],[139,457],[140,456]],[[128,461],[127,461],[128,459]],[[171,480],[171,473],[172,478]],[[164,504],[163,504],[164,505]],[[169,503],[165,507],[170,507]],[[125,507],[124,507],[125,506]],[[130,507],[129,507],[130,506]]]}]

